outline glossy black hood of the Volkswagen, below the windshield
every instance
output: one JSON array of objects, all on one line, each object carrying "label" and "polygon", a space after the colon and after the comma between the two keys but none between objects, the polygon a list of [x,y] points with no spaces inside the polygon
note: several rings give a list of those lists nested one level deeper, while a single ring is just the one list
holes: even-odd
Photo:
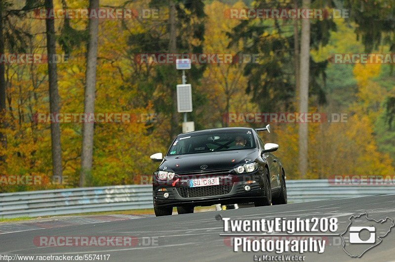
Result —
[{"label": "glossy black hood of the Volkswagen, below the windshield", "polygon": [[[172,171],[176,174],[202,172],[210,170],[231,169],[240,164],[250,163],[258,157],[257,149],[207,152],[166,156],[159,170]],[[234,160],[232,162],[232,160]],[[202,169],[202,165],[207,168]]]}]

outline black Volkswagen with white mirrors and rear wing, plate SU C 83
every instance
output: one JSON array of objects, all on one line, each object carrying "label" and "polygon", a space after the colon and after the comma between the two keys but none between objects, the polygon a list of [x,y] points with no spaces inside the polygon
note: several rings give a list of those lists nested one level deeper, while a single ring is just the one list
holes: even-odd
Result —
[{"label": "black Volkswagen with white mirrors and rear wing, plate SU C 83", "polygon": [[195,206],[254,203],[286,204],[285,172],[257,131],[265,128],[217,128],[180,134],[153,174],[156,216],[193,213]]}]

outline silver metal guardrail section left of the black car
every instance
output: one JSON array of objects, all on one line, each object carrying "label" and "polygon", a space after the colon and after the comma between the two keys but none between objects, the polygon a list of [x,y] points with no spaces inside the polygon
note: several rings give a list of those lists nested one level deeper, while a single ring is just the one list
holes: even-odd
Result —
[{"label": "silver metal guardrail section left of the black car", "polygon": [[153,208],[152,186],[82,187],[0,194],[0,218]]}]

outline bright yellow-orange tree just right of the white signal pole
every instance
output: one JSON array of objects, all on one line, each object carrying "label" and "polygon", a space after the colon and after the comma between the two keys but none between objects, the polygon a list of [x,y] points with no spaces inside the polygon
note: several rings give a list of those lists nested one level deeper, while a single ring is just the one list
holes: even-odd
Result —
[{"label": "bright yellow-orange tree just right of the white signal pole", "polygon": [[[244,66],[247,63],[259,63],[259,57],[243,54],[242,40],[232,47],[228,47],[231,38],[226,34],[240,22],[237,19],[229,19],[224,15],[224,10],[230,8],[243,8],[244,4],[237,2],[233,6],[213,1],[205,6],[206,34],[204,39],[204,53],[232,55],[233,60],[229,63],[213,63],[207,65],[203,74],[201,86],[198,90],[206,93],[209,98],[207,108],[198,108],[206,119],[206,128],[228,126],[229,113],[231,112],[256,112],[257,106],[251,102],[251,95],[245,93],[247,79],[243,75]],[[239,123],[237,123],[239,125]]]}]

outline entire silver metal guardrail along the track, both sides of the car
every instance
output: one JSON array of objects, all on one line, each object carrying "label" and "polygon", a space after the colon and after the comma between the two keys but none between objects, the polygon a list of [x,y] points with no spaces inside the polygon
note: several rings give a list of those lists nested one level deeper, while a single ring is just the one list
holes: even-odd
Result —
[{"label": "entire silver metal guardrail along the track, both sides of the car", "polygon": [[[288,180],[289,202],[394,194],[395,186],[334,186],[326,179]],[[153,208],[152,186],[126,185],[0,194],[0,218]]]}]

